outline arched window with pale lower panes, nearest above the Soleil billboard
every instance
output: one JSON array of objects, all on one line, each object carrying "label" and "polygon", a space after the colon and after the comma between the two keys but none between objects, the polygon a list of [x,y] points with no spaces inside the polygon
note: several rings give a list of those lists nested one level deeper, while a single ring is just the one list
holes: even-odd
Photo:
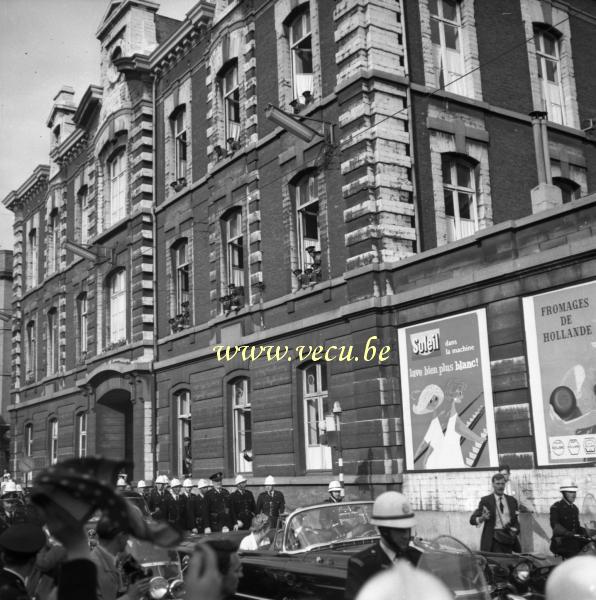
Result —
[{"label": "arched window with pale lower panes, nearest above the Soleil billboard", "polygon": [[443,156],[443,197],[447,241],[473,235],[478,230],[474,167],[463,158]]}]

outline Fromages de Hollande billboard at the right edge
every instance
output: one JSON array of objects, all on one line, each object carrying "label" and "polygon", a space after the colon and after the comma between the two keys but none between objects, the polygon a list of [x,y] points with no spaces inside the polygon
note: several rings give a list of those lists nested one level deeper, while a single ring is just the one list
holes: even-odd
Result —
[{"label": "Fromages de Hollande billboard at the right edge", "polygon": [[596,460],[596,282],[523,306],[538,464]]}]

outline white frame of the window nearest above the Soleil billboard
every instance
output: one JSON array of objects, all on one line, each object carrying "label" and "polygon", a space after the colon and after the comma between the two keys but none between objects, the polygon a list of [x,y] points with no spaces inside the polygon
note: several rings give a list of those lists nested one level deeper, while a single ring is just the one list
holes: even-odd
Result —
[{"label": "white frame of the window nearest above the Soleil billboard", "polygon": [[[445,166],[448,163],[450,172],[450,181],[445,180]],[[459,168],[465,168],[469,174],[469,186],[464,186],[459,183]],[[456,154],[445,153],[441,156],[441,173],[442,173],[442,189],[443,189],[443,205],[445,208],[445,221],[447,223],[447,242],[451,243],[457,240],[461,240],[465,237],[473,235],[479,229],[478,219],[478,176],[477,176],[477,163],[467,156],[459,156]],[[455,176],[456,183],[453,183]],[[451,205],[453,209],[453,215],[448,214],[448,196],[447,192],[451,193]],[[470,211],[471,218],[465,219],[461,217],[460,206],[461,196],[471,196]],[[464,230],[465,224],[462,221],[471,223],[467,225]]]}]

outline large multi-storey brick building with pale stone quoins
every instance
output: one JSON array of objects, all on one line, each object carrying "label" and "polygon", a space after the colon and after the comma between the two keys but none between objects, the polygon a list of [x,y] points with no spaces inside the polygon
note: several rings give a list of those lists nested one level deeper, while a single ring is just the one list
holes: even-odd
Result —
[{"label": "large multi-storey brick building with pale stone quoins", "polygon": [[[31,200],[29,188],[5,200],[24,211],[17,248],[54,181],[72,206],[64,227],[92,223],[109,197],[102,148],[126,132],[125,225],[88,240],[98,255],[121,248],[121,262],[70,266],[63,252],[63,281],[92,293],[88,355],[72,366],[76,336],[61,329],[67,377],[41,397],[48,383],[25,385],[16,343],[17,453],[33,420],[45,464],[47,420],[62,414],[60,455],[76,451],[83,390],[88,451],[108,451],[108,424],[135,477],[181,475],[190,454],[195,477],[273,474],[290,505],[313,501],[338,473],[324,441],[339,422],[348,496],[401,486],[427,523],[441,511],[463,525],[500,462],[538,515],[563,472],[589,489],[592,3],[203,0],[164,41],[152,3],[111,7],[99,30],[106,81],[53,112],[75,125],[54,151],[59,175],[38,169]],[[114,43],[124,15],[125,36],[141,15],[155,24],[154,47]],[[106,111],[113,126],[101,125]],[[88,217],[66,183],[77,135],[92,163]],[[44,280],[23,294],[15,262],[15,337],[28,339],[31,311],[48,320],[54,297],[74,326],[69,292]],[[124,287],[108,283],[117,273]],[[105,307],[124,288],[127,343],[106,350]],[[251,359],[266,347],[281,359]]]}]

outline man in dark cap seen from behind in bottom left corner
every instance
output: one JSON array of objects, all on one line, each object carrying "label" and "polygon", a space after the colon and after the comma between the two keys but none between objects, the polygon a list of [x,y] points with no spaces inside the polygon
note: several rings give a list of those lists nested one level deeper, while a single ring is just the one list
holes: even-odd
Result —
[{"label": "man in dark cap seen from behind in bottom left corner", "polygon": [[46,543],[39,525],[19,523],[0,534],[0,598],[29,600],[26,580],[33,571],[37,553]]}]

